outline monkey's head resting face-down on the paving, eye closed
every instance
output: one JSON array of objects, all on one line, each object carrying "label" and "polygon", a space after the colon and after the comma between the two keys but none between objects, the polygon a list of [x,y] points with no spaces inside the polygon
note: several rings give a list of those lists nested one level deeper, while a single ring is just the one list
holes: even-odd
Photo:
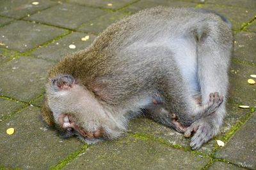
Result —
[{"label": "monkey's head resting face-down on the paving, eye closed", "polygon": [[[46,101],[42,110],[45,122],[54,125],[63,138],[79,136],[86,143],[108,138],[108,119],[92,92],[70,75],[60,74],[46,85]],[[107,130],[108,131],[108,130]]]}]

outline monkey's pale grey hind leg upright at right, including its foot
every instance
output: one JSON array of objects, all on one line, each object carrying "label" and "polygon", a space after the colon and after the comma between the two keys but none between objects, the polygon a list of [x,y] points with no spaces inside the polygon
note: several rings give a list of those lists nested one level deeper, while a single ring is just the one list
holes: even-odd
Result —
[{"label": "monkey's pale grey hind leg upright at right, including its foot", "polygon": [[213,138],[220,131],[223,117],[225,116],[225,97],[228,87],[228,65],[232,50],[232,34],[227,25],[220,20],[210,22],[202,32],[198,32],[198,80],[202,95],[202,104],[207,103],[212,92],[223,96],[223,104],[212,114],[194,122],[186,129],[185,136],[191,136],[192,149],[200,148],[204,143]]}]

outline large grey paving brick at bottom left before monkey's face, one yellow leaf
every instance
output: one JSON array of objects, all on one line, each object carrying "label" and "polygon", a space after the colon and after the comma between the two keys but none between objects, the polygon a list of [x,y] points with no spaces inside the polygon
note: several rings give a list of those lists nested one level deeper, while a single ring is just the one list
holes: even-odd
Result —
[{"label": "large grey paving brick at bottom left before monkey's face, one yellow leaf", "polygon": [[[13,127],[13,135],[6,129]],[[49,169],[80,148],[76,138],[61,139],[42,122],[40,109],[29,107],[0,124],[0,164],[21,169]]]}]

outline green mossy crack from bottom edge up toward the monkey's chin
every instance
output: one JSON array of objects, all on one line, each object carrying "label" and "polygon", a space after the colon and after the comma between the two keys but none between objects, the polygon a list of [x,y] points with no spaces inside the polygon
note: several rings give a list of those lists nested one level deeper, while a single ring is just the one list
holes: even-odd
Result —
[{"label": "green mossy crack from bottom edge up toward the monkey's chin", "polygon": [[72,162],[72,160],[76,159],[79,157],[79,155],[87,150],[92,145],[87,145],[84,144],[81,148],[76,150],[76,152],[70,153],[65,159],[61,160],[60,163],[56,166],[52,166],[50,169],[51,170],[56,170],[56,169],[61,169],[65,167],[68,163]]}]

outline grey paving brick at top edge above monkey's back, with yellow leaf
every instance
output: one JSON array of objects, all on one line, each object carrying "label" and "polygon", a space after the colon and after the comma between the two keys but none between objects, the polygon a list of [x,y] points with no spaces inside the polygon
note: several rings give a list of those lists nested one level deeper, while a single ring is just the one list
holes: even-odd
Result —
[{"label": "grey paving brick at top edge above monkey's back, with yellow leaf", "polygon": [[135,2],[136,0],[94,0],[94,1],[83,1],[83,0],[70,0],[71,3],[78,3],[78,4],[84,4],[88,6],[95,6],[100,8],[108,8],[117,10],[120,9],[128,4],[131,4]]}]

